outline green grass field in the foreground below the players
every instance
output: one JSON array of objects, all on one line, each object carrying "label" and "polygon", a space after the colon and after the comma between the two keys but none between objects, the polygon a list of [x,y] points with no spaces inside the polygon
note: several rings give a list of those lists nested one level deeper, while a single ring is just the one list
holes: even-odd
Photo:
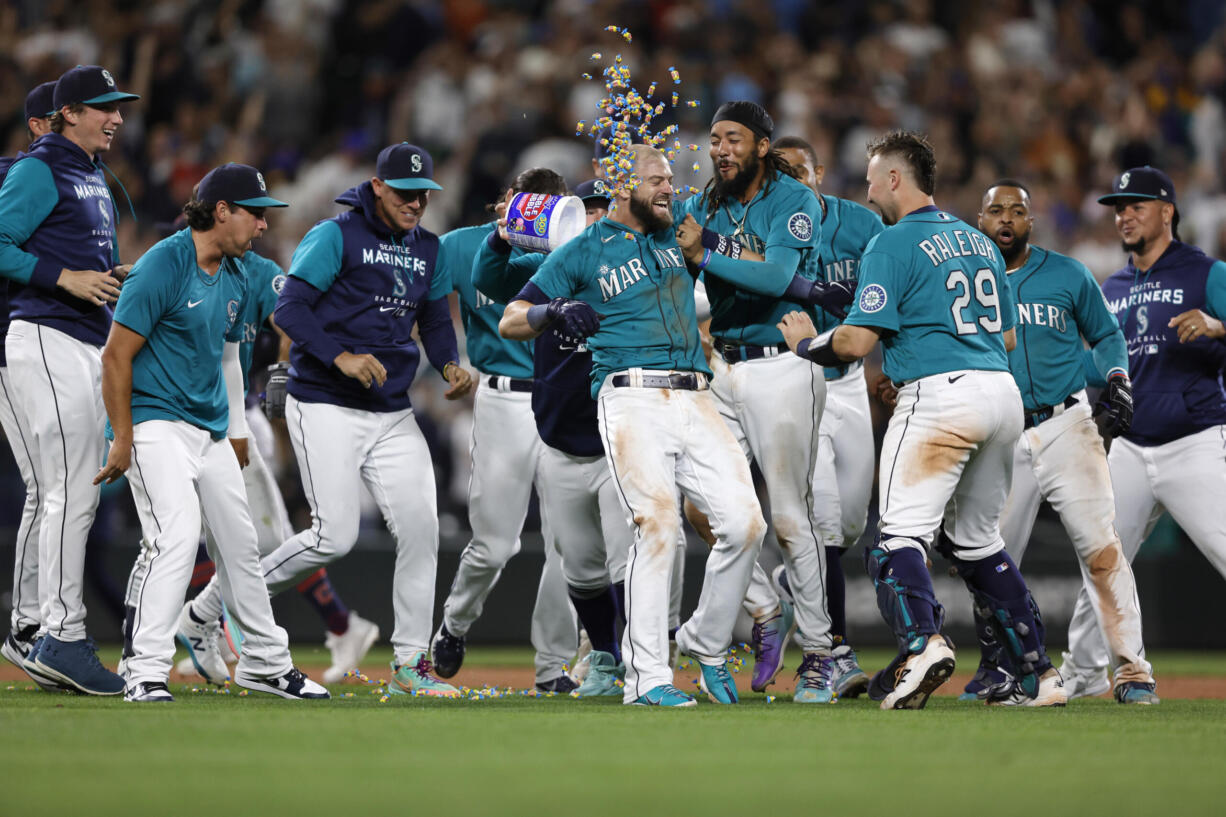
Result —
[{"label": "green grass field in the foreground below the players", "polygon": [[[1221,654],[1154,662],[1226,676]],[[474,649],[466,666],[525,664],[525,650]],[[1226,802],[1226,700],[1002,710],[934,697],[884,713],[743,689],[739,707],[666,712],[522,696],[380,703],[354,685],[333,687],[352,698],[306,704],[172,685],[174,704],[136,707],[28,687],[0,686],[5,816],[1166,817]]]}]

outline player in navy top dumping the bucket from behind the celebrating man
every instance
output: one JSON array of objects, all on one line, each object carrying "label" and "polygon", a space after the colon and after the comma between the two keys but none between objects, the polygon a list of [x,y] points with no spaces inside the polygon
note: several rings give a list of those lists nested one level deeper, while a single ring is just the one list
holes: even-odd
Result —
[{"label": "player in navy top dumping the bucket from behind the celebrating man", "polygon": [[[575,189],[587,224],[608,213],[603,179]],[[516,250],[499,232],[482,244],[472,267],[477,291],[499,302],[515,298],[546,256]],[[623,694],[625,665],[617,622],[625,599],[625,558],[633,531],[604,458],[591,396],[592,355],[582,339],[566,337],[557,324],[536,339],[532,413],[541,435],[537,486],[548,518],[546,547],[562,551],[570,600],[591,645],[582,662],[580,697]],[[669,611],[669,615],[672,612]]]}]

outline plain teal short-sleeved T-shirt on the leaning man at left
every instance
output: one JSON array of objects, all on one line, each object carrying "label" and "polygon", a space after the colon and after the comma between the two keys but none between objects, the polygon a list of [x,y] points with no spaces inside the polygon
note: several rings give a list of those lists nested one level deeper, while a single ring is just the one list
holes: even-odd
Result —
[{"label": "plain teal short-sleeved T-shirt on the leaning man at left", "polygon": [[132,423],[178,420],[223,439],[229,404],[222,351],[243,337],[248,299],[237,259],[208,275],[196,264],[191,231],[154,244],[124,280],[115,323],[145,337],[132,359]]}]

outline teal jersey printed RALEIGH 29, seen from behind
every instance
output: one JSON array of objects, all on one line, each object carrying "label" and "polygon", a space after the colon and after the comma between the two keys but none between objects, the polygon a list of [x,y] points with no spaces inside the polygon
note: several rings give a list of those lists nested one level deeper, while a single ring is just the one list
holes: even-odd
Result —
[{"label": "teal jersey printed RALEIGH 29, seen from behind", "polygon": [[942,372],[1008,372],[1002,332],[1015,324],[1000,251],[966,222],[921,207],[888,227],[859,259],[843,323],[884,330],[895,382]]}]

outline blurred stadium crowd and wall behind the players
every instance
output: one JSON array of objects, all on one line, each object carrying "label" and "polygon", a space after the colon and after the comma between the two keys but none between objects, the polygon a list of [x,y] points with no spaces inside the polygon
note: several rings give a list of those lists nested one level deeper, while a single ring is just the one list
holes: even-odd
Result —
[{"label": "blurred stadium crowd and wall behind the players", "polygon": [[[629,28],[634,43],[603,32],[606,25]],[[1226,15],[1214,0],[6,0],[0,141],[5,155],[25,146],[28,88],[78,63],[105,65],[121,87],[142,96],[125,107],[116,147],[104,156],[125,188],[113,183],[124,260],[163,234],[207,169],[238,161],[260,167],[272,194],[292,204],[273,216],[257,247],[284,266],[302,234],[336,211],[332,198],[371,175],[375,153],[391,141],[407,139],[434,155],[444,191],[432,199],[424,223],[439,233],[483,221],[485,205],[520,169],[552,167],[571,184],[587,178],[591,142],[574,134],[603,92],[598,81],[580,79],[592,70],[593,52],[603,54],[595,65],[620,53],[640,87],[667,82],[668,67],[677,66],[685,98],[701,101],[677,109],[687,144],[705,145],[720,102],[761,102],[776,135],[802,135],[817,147],[826,168],[823,189],[857,201],[864,142],[894,126],[924,130],[937,148],[943,207],[973,218],[992,180],[1020,178],[1034,193],[1036,243],[1076,256],[1100,280],[1123,254],[1095,198],[1121,168],[1154,163],[1168,171],[1183,238],[1219,256],[1226,244]],[[710,162],[705,151],[684,152],[676,171],[679,186],[701,186]],[[413,393],[440,494],[439,604],[467,541],[471,424],[467,406],[443,401],[441,385],[423,372]],[[875,408],[880,432],[884,415]],[[282,454],[282,487],[303,527],[308,510],[287,444]],[[21,497],[5,447],[6,566]],[[473,640],[527,640],[541,563],[537,526],[533,514],[525,552],[504,574]],[[103,640],[118,638],[114,604],[137,540],[126,486],[109,491],[91,541],[87,594],[91,632]],[[332,569],[347,601],[385,632],[391,547],[371,505],[358,547]],[[884,644],[889,634],[858,550],[846,557],[848,619],[858,643]],[[702,556],[693,541],[689,605]],[[1079,578],[1067,536],[1046,508],[1025,564],[1057,632],[1052,644],[1062,644]],[[1226,615],[1221,578],[1168,519],[1143,548],[1137,574],[1148,644],[1226,646],[1226,633],[1203,626]],[[938,566],[953,633],[966,640],[969,610],[953,585]],[[0,612],[7,612],[7,575],[0,588]],[[284,597],[276,605],[292,637],[319,637],[303,605]]]}]

